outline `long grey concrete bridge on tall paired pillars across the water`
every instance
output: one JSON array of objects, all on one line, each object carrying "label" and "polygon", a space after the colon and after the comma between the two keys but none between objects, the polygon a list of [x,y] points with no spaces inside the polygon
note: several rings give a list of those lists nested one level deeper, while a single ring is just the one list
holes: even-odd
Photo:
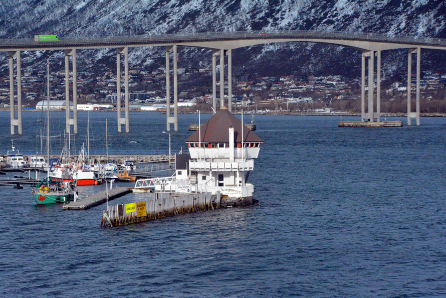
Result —
[{"label": "long grey concrete bridge on tall paired pillars across the water", "polygon": [[[66,99],[66,128],[73,126],[73,132],[77,133],[77,71],[76,51],[83,49],[116,48],[116,73],[117,73],[117,110],[118,131],[121,125],[125,125],[125,132],[129,132],[129,67],[128,51],[135,47],[165,47],[166,59],[166,123],[167,131],[173,123],[174,131],[178,130],[178,84],[177,84],[177,47],[197,47],[212,50],[212,107],[216,110],[216,57],[220,63],[220,106],[224,102],[225,83],[225,56],[228,63],[228,108],[232,111],[232,50],[242,47],[255,46],[267,43],[305,42],[338,45],[358,50],[361,53],[361,121],[380,122],[380,94],[381,94],[381,51],[408,49],[407,55],[407,124],[411,125],[411,119],[416,119],[419,125],[419,97],[420,97],[420,61],[421,49],[446,50],[446,40],[437,38],[419,38],[392,36],[382,34],[355,34],[346,32],[315,32],[315,31],[248,31],[248,32],[213,32],[144,36],[113,36],[113,37],[86,37],[86,38],[60,38],[57,42],[39,42],[34,39],[9,39],[0,40],[0,51],[9,52],[10,66],[10,102],[11,102],[11,134],[15,134],[15,126],[18,133],[22,134],[22,75],[21,52],[25,51],[49,51],[61,50],[65,52],[65,99]],[[170,52],[173,54],[173,116],[170,112]],[[121,112],[121,55],[124,54],[124,117]],[[416,107],[412,112],[411,107],[411,65],[412,54],[416,54]],[[72,98],[73,113],[69,108],[70,85],[69,68],[72,56]],[[374,107],[374,69],[376,57],[376,109]],[[17,64],[17,106],[18,115],[15,118],[14,100],[14,58]],[[368,103],[365,104],[365,69],[368,63]]]}]

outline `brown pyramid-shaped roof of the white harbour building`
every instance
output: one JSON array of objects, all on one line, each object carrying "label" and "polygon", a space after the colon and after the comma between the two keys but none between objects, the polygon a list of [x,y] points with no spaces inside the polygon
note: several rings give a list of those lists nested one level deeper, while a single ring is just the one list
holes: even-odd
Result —
[{"label": "brown pyramid-shaped roof of the white harbour building", "polygon": [[[234,142],[242,142],[242,121],[234,116],[228,108],[222,106],[206,123],[201,125],[201,142],[217,143],[229,141],[229,127],[234,127]],[[186,138],[186,142],[198,142],[199,130]],[[246,125],[243,125],[244,142],[263,142]]]}]

